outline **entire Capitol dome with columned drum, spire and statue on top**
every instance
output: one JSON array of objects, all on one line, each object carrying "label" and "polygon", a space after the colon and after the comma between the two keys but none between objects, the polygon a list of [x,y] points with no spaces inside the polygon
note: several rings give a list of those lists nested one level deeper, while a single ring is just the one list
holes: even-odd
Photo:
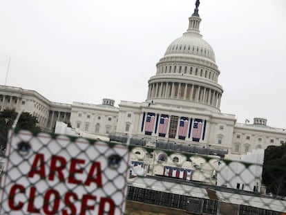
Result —
[{"label": "entire Capitol dome with columned drum, spire and statue on top", "polygon": [[156,64],[146,102],[220,112],[220,71],[213,48],[200,35],[199,5],[197,0],[187,32],[166,48]]}]

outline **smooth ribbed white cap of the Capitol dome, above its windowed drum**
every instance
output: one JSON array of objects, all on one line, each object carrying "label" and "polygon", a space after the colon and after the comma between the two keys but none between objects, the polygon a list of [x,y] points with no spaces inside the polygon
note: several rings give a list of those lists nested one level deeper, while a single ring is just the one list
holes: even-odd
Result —
[{"label": "smooth ribbed white cap of the Capitol dome, above its windowed drum", "polygon": [[198,55],[216,62],[213,48],[211,48],[207,41],[202,39],[200,34],[193,32],[185,32],[182,37],[175,39],[166,49],[164,56],[171,54]]}]

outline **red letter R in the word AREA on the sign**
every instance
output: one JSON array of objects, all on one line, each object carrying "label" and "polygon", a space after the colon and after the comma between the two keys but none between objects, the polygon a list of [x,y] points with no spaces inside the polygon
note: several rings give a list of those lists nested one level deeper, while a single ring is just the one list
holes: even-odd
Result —
[{"label": "red letter R in the word AREA on the sign", "polygon": [[[59,166],[57,167],[57,162],[59,161]],[[63,170],[66,168],[66,159],[60,156],[52,156],[50,161],[50,174],[48,180],[54,180],[55,172],[59,175],[59,180],[64,181]]]}]

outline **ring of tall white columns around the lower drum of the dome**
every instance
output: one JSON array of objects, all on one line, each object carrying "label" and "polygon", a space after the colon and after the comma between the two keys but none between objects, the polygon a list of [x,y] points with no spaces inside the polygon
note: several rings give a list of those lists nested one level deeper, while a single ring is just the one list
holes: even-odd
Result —
[{"label": "ring of tall white columns around the lower drum of the dome", "polygon": [[220,107],[221,93],[206,86],[177,82],[157,82],[149,84],[148,99],[173,98],[200,102]]}]

